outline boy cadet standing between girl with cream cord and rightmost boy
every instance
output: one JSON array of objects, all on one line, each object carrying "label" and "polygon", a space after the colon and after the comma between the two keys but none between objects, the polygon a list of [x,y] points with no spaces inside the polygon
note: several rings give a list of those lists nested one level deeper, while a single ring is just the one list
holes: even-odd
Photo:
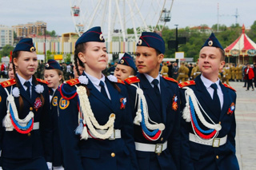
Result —
[{"label": "boy cadet standing between girl with cream cord and rightmost boy", "polygon": [[142,33],[135,53],[139,73],[126,79],[135,108],[134,140],[141,170],[179,169],[178,82],[159,75],[164,53],[165,43],[158,34]]}]

